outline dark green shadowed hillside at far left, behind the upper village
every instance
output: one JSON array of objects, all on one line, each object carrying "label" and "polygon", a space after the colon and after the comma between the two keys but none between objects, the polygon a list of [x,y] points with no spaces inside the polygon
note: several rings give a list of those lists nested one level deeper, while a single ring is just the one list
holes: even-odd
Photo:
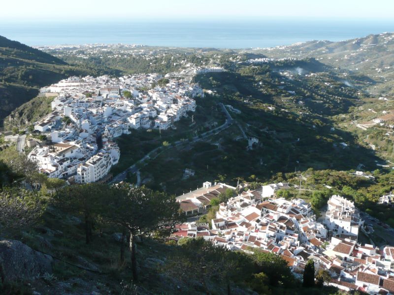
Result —
[{"label": "dark green shadowed hillside at far left, behind the upper village", "polygon": [[92,72],[0,36],[0,121],[36,96],[40,87]]}]

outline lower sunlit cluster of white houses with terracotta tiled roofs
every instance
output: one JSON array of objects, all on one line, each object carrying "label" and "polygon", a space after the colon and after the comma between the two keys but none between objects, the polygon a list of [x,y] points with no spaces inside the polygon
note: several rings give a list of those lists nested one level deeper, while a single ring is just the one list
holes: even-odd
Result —
[{"label": "lower sunlit cluster of white houses with terracotta tiled roofs", "polygon": [[[211,200],[219,199],[226,190],[237,188],[207,181],[177,201],[187,216],[193,216],[206,212]],[[313,259],[315,269],[326,269],[331,275],[329,285],[344,291],[394,294],[394,247],[380,249],[358,243],[361,231],[373,229],[364,224],[353,202],[333,195],[318,222],[304,200],[275,197],[276,190],[286,188],[287,183],[264,185],[258,190],[246,186],[236,197],[219,204],[216,218],[209,224],[180,224],[172,238],[204,238],[229,250],[272,252],[299,277],[306,262]]]}]

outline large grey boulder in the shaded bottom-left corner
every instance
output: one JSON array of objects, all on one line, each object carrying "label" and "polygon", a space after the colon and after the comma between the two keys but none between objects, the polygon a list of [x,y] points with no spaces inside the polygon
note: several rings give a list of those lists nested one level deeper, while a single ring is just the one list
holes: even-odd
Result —
[{"label": "large grey boulder in the shaded bottom-left corner", "polygon": [[0,279],[11,282],[18,279],[34,280],[39,274],[52,273],[53,259],[34,251],[17,240],[0,241]]}]

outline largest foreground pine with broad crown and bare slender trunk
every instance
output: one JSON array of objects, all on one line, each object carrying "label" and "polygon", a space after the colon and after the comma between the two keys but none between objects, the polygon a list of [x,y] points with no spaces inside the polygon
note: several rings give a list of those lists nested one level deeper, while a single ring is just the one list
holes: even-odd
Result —
[{"label": "largest foreground pine with broad crown and bare slender trunk", "polygon": [[111,187],[108,196],[102,218],[129,231],[132,277],[138,280],[135,237],[153,231],[168,231],[182,222],[184,215],[180,214],[179,203],[174,196],[145,187],[133,187],[130,183]]}]

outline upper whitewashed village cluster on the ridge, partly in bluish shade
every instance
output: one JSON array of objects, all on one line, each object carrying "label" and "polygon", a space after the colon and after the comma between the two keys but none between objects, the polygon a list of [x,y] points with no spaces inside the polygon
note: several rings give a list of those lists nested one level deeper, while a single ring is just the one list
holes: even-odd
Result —
[{"label": "upper whitewashed village cluster on the ridge, partly in bluish shade", "polygon": [[[29,158],[41,173],[64,178],[69,183],[106,181],[119,161],[120,150],[113,141],[132,129],[175,128],[174,122],[196,109],[196,84],[165,80],[158,74],[119,78],[69,77],[41,89],[56,96],[53,112],[34,123],[50,144],[36,146]],[[33,140],[31,140],[33,141]]]}]

